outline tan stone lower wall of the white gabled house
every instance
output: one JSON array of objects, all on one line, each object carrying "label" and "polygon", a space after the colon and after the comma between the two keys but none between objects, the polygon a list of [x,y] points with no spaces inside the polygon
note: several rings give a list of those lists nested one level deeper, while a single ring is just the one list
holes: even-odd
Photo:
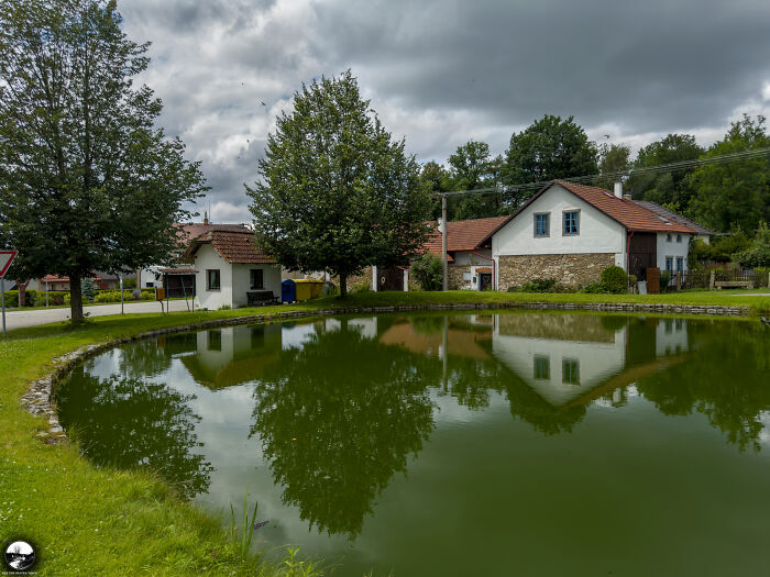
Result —
[{"label": "tan stone lower wall of the white gabled house", "polygon": [[536,278],[556,278],[561,285],[581,287],[598,280],[602,270],[614,264],[614,253],[505,255],[499,257],[499,290]]}]

